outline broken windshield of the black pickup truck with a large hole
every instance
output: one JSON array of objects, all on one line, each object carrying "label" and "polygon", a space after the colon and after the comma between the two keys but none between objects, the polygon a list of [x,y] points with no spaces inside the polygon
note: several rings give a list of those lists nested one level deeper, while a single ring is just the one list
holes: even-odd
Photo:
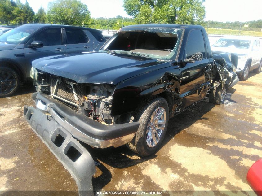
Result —
[{"label": "broken windshield of the black pickup truck with a large hole", "polygon": [[152,59],[175,59],[183,29],[150,28],[120,31],[100,49]]}]

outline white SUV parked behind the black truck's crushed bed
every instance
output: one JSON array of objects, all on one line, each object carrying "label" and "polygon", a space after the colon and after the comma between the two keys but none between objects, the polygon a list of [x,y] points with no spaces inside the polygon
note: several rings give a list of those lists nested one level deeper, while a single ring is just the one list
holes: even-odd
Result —
[{"label": "white SUV parked behind the black truck's crushed bed", "polygon": [[224,36],[211,46],[212,53],[238,53],[236,73],[240,80],[246,80],[250,71],[260,73],[262,47],[258,37]]}]

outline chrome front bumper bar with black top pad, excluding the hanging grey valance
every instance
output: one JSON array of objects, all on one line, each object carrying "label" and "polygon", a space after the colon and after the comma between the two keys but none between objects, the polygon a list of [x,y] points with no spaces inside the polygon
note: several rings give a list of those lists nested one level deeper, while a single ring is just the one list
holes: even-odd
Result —
[{"label": "chrome front bumper bar with black top pad, excluding the hanging grey valance", "polygon": [[[72,136],[90,146],[106,148],[109,146],[122,146],[130,142],[137,129],[139,122],[106,125],[92,120],[82,114],[79,114],[62,103],[51,98],[47,94],[38,92],[32,95],[32,98],[39,102],[41,107],[37,109],[45,112],[46,118],[51,118],[54,122]],[[34,109],[34,110],[37,110]],[[30,124],[30,121],[28,121]],[[40,126],[45,126],[42,121],[36,119]]]}]

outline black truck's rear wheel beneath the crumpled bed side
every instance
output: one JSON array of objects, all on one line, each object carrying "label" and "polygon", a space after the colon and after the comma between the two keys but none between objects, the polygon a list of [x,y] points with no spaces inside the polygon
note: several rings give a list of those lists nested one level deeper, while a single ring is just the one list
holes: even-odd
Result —
[{"label": "black truck's rear wheel beneath the crumpled bed side", "polygon": [[215,88],[209,90],[208,102],[216,105],[223,104],[227,94],[225,87],[222,88],[222,84],[220,83],[215,92],[214,90]]}]

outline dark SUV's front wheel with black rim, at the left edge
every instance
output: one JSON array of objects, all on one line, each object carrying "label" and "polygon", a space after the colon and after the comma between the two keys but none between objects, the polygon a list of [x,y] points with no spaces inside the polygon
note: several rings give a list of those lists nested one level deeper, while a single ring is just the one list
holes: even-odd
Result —
[{"label": "dark SUV's front wheel with black rim, at the left edge", "polygon": [[16,71],[0,67],[0,98],[11,96],[20,86],[20,77]]}]

